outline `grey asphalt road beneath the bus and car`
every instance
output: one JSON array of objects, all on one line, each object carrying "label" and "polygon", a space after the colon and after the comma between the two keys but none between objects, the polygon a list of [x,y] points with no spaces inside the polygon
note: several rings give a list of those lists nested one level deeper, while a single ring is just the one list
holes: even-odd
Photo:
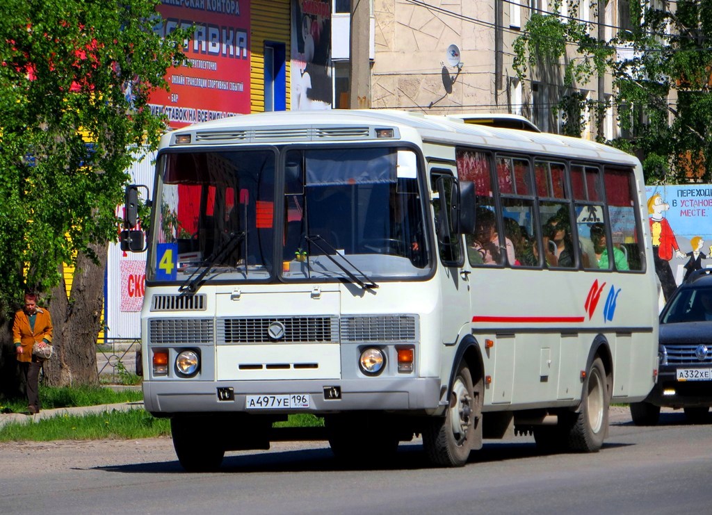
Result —
[{"label": "grey asphalt road beneath the bus and car", "polygon": [[325,444],[297,442],[230,453],[211,474],[182,472],[169,439],[0,444],[0,513],[711,513],[712,425],[675,412],[637,428],[613,409],[601,452],[487,440],[461,469],[426,467],[417,442],[387,469],[341,469]]}]

